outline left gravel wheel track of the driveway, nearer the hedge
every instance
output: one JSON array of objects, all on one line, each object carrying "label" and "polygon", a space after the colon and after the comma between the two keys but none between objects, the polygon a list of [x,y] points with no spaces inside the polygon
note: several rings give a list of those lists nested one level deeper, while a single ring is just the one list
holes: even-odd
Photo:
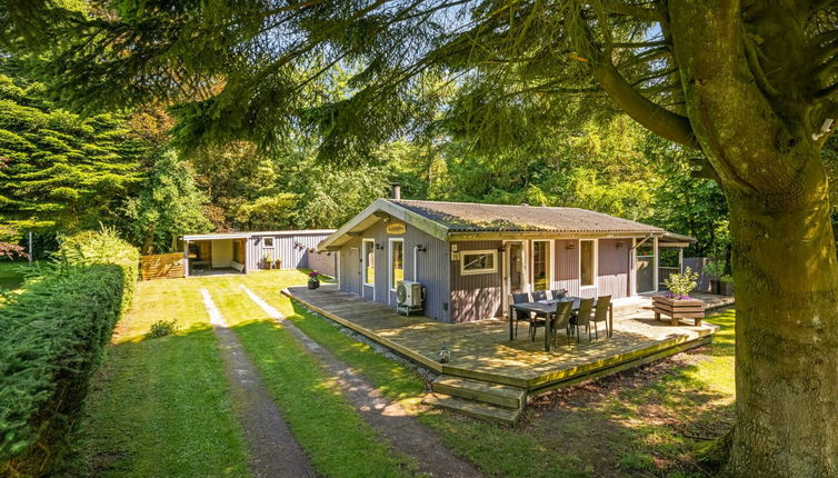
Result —
[{"label": "left gravel wheel track of the driveway, nearer the hedge", "polygon": [[251,471],[259,478],[316,477],[308,457],[291,436],[282,412],[273,404],[209,291],[201,289],[201,296],[220,343],[233,410],[245,430]]}]

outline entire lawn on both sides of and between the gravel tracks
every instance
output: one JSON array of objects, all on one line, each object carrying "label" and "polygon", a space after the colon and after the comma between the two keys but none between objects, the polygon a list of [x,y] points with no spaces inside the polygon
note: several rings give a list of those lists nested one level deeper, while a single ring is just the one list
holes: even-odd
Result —
[{"label": "entire lawn on both sides of and between the gravel tracks", "polygon": [[[280,293],[306,280],[300,271],[263,271],[141,282],[94,381],[82,427],[82,469],[97,476],[249,476],[201,287],[323,476],[406,476],[415,464],[360,418],[319,364],[241,285],[399,400],[487,476],[706,476],[700,449],[732,420],[732,311],[710,318],[721,327],[711,346],[537,397],[509,428],[422,407],[425,382],[415,370]],[[176,319],[178,333],[146,339],[160,319]],[[208,451],[219,449],[225,452]]]}]

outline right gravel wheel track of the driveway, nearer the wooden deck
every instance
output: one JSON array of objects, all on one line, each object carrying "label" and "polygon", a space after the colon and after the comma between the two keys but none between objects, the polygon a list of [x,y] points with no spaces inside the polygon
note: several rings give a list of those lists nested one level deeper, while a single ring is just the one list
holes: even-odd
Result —
[{"label": "right gravel wheel track of the driveway, nearer the wooden deck", "polygon": [[340,385],[343,395],[358,409],[361,417],[379,434],[387,437],[397,451],[416,459],[419,471],[437,477],[479,477],[480,471],[470,462],[456,457],[442,446],[439,437],[416,421],[399,404],[383,397],[366,378],[320,347],[275,307],[245,286],[247,292],[269,317],[282,322],[298,340],[326,367]]}]

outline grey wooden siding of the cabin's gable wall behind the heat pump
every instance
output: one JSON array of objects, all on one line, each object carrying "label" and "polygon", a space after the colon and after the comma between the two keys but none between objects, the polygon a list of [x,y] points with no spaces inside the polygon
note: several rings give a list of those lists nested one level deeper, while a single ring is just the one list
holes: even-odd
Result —
[{"label": "grey wooden siding of the cabin's gable wall behind the heat pump", "polygon": [[[407,225],[403,235],[388,235],[387,226],[379,221],[370,226],[358,238],[352,238],[340,248],[341,290],[360,295],[361,241],[372,239],[381,248],[375,249],[376,278],[375,295],[371,287],[363,287],[362,297],[396,307],[396,292],[390,290],[390,239],[405,241],[405,279],[417,280],[426,289],[425,315],[437,320],[449,321],[448,295],[448,242],[441,241],[413,226]],[[413,276],[413,250],[421,245],[426,250],[417,251],[416,278]],[[357,248],[351,252],[350,249]],[[346,282],[346,283],[345,283]]]}]

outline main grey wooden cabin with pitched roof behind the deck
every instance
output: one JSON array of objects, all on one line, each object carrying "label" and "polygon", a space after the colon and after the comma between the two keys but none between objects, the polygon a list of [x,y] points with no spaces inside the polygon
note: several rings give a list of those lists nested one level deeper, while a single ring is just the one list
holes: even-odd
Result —
[{"label": "main grey wooden cabin with pitched roof behind the deck", "polygon": [[419,282],[423,313],[500,317],[510,293],[567,289],[613,299],[658,290],[662,248],[695,239],[578,208],[378,199],[319,245],[338,253],[340,290],[397,305]]}]

